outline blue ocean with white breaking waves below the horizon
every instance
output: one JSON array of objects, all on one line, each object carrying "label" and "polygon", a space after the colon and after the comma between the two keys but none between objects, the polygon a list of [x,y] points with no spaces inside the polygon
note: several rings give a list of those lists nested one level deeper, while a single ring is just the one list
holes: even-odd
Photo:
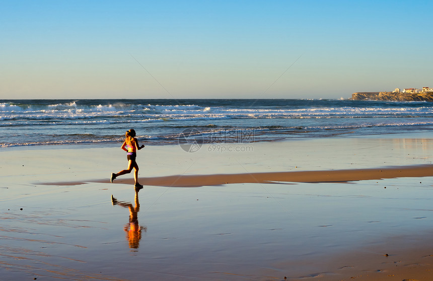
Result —
[{"label": "blue ocean with white breaking waves below the horizon", "polygon": [[433,128],[433,103],[333,99],[0,100],[0,147],[250,143]]}]

